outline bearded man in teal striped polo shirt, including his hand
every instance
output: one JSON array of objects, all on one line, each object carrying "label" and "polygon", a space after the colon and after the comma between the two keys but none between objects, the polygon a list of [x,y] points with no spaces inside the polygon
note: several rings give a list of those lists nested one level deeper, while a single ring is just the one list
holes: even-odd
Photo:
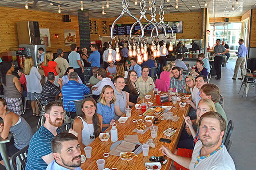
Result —
[{"label": "bearded man in teal striped polo shirt, including his hand", "polygon": [[[45,170],[53,161],[51,141],[60,133],[58,127],[62,126],[63,112],[62,103],[50,102],[45,106],[45,123],[30,140],[26,170]],[[72,129],[69,133],[77,135]]]}]

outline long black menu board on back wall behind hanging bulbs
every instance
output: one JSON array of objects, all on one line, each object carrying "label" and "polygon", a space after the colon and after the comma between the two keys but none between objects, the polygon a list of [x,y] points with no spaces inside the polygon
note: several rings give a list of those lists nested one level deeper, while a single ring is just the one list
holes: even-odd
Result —
[{"label": "long black menu board on back wall behind hanging bulbs", "polygon": [[[183,32],[183,22],[182,21],[175,21],[175,22],[164,22],[165,24],[169,25],[173,33],[182,33]],[[142,23],[143,27],[148,24],[148,23]],[[111,30],[112,25],[109,26],[109,29]],[[132,28],[132,24],[116,24],[114,29],[113,29],[113,36],[119,36],[119,35],[129,35],[130,31]],[[152,30],[154,29],[153,24],[149,24],[145,29],[144,29],[144,35],[151,35]],[[171,29],[169,27],[164,26],[166,29],[166,33],[172,33]],[[158,33],[163,34],[164,33],[164,28],[161,26],[158,26]],[[156,29],[153,30],[153,35],[156,34]],[[141,35],[141,28],[139,24],[136,24],[132,28],[132,35]]]}]

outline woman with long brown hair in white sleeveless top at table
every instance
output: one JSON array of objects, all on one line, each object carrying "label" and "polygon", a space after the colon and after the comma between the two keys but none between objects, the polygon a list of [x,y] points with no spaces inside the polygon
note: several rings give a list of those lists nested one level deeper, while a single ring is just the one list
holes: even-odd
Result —
[{"label": "woman with long brown hair in white sleeveless top at table", "polygon": [[80,149],[83,150],[100,135],[102,116],[96,113],[97,105],[93,98],[85,98],[81,105],[82,113],[76,117],[73,129],[77,132]]}]

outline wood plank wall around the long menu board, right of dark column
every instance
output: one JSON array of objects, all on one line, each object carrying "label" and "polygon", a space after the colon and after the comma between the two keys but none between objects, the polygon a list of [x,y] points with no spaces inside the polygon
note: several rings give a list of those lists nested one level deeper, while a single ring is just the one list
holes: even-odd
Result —
[{"label": "wood plank wall around the long menu board, right of dark column", "polygon": [[[151,19],[150,16],[147,16],[148,19]],[[156,16],[159,18],[159,15]],[[98,34],[91,34],[91,40],[100,40],[100,36],[110,36],[109,25],[112,25],[116,18],[108,18],[106,19],[94,19],[90,18],[90,20],[98,21]],[[107,29],[108,33],[103,34],[102,21],[107,21]],[[169,13],[164,15],[164,21],[183,21],[183,33],[176,34],[176,39],[201,39],[201,27],[202,27],[202,12],[187,12],[187,13]],[[129,16],[124,16],[120,18],[117,24],[133,24],[135,22]],[[146,20],[142,20],[142,22],[146,22]]]}]

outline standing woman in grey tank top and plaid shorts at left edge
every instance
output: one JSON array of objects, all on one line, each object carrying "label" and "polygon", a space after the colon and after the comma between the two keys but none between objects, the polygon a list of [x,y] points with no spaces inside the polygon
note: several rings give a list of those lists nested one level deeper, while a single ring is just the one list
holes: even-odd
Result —
[{"label": "standing woman in grey tank top and plaid shorts at left edge", "polygon": [[21,99],[23,91],[18,78],[12,75],[13,71],[14,66],[11,62],[3,61],[0,63],[0,77],[4,87],[4,99],[7,102],[7,107],[17,115],[21,115],[23,114]]}]

